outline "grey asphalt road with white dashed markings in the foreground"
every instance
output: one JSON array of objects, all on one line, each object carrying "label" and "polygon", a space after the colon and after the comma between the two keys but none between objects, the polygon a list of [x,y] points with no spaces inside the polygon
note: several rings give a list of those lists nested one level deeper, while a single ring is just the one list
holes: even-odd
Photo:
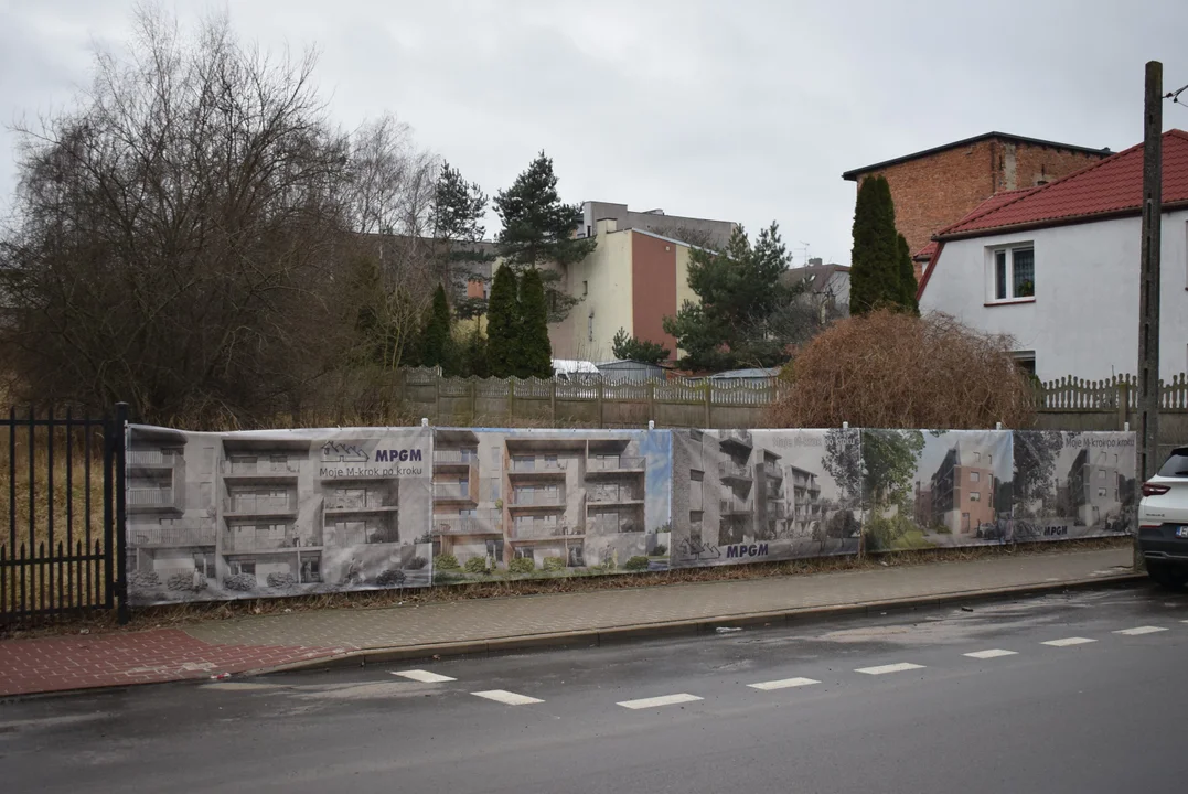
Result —
[{"label": "grey asphalt road with white dashed markings in the foreground", "polygon": [[[1180,790],[1186,621],[1188,598],[1137,587],[419,667],[440,682],[403,665],[12,701],[0,789]],[[791,679],[813,682],[770,688]]]}]

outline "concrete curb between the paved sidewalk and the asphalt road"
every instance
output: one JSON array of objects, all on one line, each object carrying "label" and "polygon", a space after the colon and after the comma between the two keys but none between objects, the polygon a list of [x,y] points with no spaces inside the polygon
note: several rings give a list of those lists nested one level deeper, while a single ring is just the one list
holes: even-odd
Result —
[{"label": "concrete curb between the paved sidewalk and the asphalt road", "polygon": [[274,667],[246,671],[244,673],[238,673],[236,678],[247,675],[272,675],[277,673],[298,671],[366,667],[368,665],[384,665],[394,661],[436,660],[460,656],[489,656],[516,650],[533,650],[542,648],[564,648],[576,646],[598,647],[614,642],[653,640],[657,637],[678,635],[695,635],[713,631],[719,627],[810,623],[834,617],[868,615],[871,612],[908,611],[929,606],[942,606],[946,604],[1007,601],[1024,596],[1037,596],[1068,590],[1127,586],[1146,580],[1148,577],[1145,573],[1123,573],[1110,577],[1088,577],[1083,579],[1068,579],[1064,582],[1044,582],[1038,584],[982,590],[959,590],[930,596],[911,596],[908,598],[889,598],[883,601],[855,602],[851,604],[798,606],[794,609],[699,617],[685,621],[637,623],[602,629],[527,634],[465,642],[364,648],[334,656],[321,656],[318,659],[309,659],[286,665],[278,665]]}]

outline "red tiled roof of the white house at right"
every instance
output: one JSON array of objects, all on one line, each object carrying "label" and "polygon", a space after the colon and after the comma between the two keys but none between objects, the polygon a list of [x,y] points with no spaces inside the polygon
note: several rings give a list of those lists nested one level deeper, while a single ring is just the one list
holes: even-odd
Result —
[{"label": "red tiled roof of the white house at right", "polygon": [[[1067,222],[1111,212],[1138,211],[1143,199],[1143,145],[1081,169],[1047,185],[997,193],[939,239],[1048,222]],[[1163,133],[1163,203],[1188,203],[1188,133]]]}]

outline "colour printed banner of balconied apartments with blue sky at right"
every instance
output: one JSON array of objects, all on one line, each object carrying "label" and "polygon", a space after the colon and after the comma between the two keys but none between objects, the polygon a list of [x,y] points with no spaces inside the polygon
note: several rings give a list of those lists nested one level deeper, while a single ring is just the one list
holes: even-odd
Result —
[{"label": "colour printed banner of balconied apartments with blue sky at right", "polygon": [[668,568],[668,431],[434,431],[434,582]]}]

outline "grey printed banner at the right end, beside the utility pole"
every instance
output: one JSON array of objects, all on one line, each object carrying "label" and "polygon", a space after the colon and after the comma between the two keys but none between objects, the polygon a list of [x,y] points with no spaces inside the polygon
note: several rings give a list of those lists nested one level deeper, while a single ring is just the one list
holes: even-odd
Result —
[{"label": "grey printed banner at the right end, beside the utility pole", "polygon": [[1013,540],[1132,534],[1138,482],[1135,433],[1015,433]]}]

